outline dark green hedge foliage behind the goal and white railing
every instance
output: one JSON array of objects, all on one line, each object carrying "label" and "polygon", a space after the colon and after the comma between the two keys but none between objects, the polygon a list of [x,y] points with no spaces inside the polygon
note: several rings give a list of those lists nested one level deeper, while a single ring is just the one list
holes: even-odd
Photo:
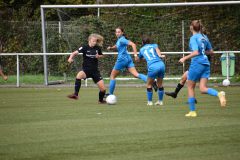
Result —
[{"label": "dark green hedge foliage behind the goal and white railing", "polygon": [[[195,1],[195,0],[194,0]],[[201,0],[203,1],[203,0]],[[40,5],[41,4],[114,4],[114,3],[163,3],[183,2],[181,0],[0,0],[0,52],[37,53],[42,52]],[[185,1],[184,1],[185,2]],[[191,2],[191,1],[188,1]],[[72,52],[87,43],[91,33],[102,34],[105,38],[103,50],[116,41],[114,29],[125,28],[127,37],[141,46],[141,35],[150,34],[162,51],[182,51],[182,21],[185,29],[185,48],[188,50],[188,29],[192,19],[201,19],[214,50],[239,50],[240,7],[204,6],[174,8],[114,8],[101,9],[97,18],[96,9],[46,10],[47,51]],[[58,34],[59,15],[62,19],[62,34]],[[212,72],[221,71],[219,57],[212,58]],[[106,56],[100,61],[100,69],[107,76],[114,65],[116,56]],[[1,57],[2,65],[9,74],[15,74],[16,58]],[[81,56],[73,66],[66,63],[67,56],[49,56],[49,74],[72,73],[81,68]],[[167,74],[180,74],[179,56],[168,56],[165,60]],[[43,73],[41,56],[20,57],[21,71],[30,74]],[[107,65],[106,65],[107,64]],[[146,72],[144,65],[136,64],[140,72]],[[188,66],[188,64],[187,64]],[[186,66],[186,68],[187,68]],[[176,69],[179,68],[179,69]],[[239,73],[239,56],[236,57],[236,72]]]}]

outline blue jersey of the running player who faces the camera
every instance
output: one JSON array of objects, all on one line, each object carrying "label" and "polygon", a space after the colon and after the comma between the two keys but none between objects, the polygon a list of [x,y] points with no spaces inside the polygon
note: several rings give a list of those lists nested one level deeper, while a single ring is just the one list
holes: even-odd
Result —
[{"label": "blue jersey of the running player who faces the camera", "polygon": [[118,38],[116,42],[116,46],[118,50],[118,58],[117,58],[118,61],[131,58],[131,56],[127,51],[128,44],[129,44],[129,40],[127,40],[124,36],[121,36]]}]

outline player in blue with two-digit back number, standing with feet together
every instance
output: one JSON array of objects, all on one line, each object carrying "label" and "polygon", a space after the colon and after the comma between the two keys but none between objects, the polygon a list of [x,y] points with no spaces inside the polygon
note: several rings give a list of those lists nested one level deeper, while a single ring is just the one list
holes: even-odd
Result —
[{"label": "player in blue with two-digit back number, standing with feet together", "polygon": [[165,73],[165,65],[161,58],[164,56],[161,55],[160,49],[157,44],[151,44],[150,38],[148,36],[144,36],[142,38],[142,48],[139,52],[139,58],[144,58],[147,61],[148,68],[148,79],[147,79],[147,105],[152,106],[152,85],[154,80],[157,78],[157,87],[158,87],[158,101],[155,105],[163,105],[163,95],[164,88],[162,86],[164,73]]}]

